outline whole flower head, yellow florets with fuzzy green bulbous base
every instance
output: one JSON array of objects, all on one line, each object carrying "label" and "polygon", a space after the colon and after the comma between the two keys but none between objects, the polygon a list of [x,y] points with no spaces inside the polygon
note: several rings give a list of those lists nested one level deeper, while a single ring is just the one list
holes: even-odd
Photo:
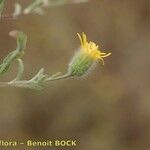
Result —
[{"label": "whole flower head, yellow florets with fuzzy green bulbous base", "polygon": [[101,52],[98,49],[98,45],[94,42],[87,41],[87,37],[84,33],[82,33],[82,35],[78,33],[78,37],[81,42],[81,47],[72,58],[68,72],[71,76],[80,77],[87,74],[98,60],[101,60],[104,64],[103,58],[108,57],[111,53],[106,54]]}]

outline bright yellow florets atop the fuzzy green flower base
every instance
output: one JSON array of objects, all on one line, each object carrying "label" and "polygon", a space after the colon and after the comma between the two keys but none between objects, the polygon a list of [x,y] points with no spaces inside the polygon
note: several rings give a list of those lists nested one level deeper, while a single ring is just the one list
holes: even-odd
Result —
[{"label": "bright yellow florets atop the fuzzy green flower base", "polygon": [[98,49],[98,45],[96,45],[94,42],[88,42],[87,41],[87,37],[84,33],[82,33],[82,35],[80,35],[79,33],[77,33],[80,42],[81,42],[81,50],[89,55],[93,60],[97,60],[100,59],[102,60],[103,64],[104,64],[104,59],[105,57],[108,57],[109,55],[111,55],[111,53],[103,53]]}]

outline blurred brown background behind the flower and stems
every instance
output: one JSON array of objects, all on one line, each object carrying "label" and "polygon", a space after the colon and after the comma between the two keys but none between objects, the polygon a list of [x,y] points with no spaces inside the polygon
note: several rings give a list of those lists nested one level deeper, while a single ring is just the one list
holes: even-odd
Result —
[{"label": "blurred brown background behind the flower and stems", "polygon": [[[5,13],[13,3],[7,1]],[[1,60],[16,47],[8,36],[14,29],[28,35],[25,79],[41,67],[65,72],[79,46],[77,32],[112,55],[86,79],[51,82],[43,91],[1,88],[1,139],[76,139],[77,150],[150,149],[149,0],[91,0],[2,20]],[[15,72],[16,64],[1,80]]]}]

